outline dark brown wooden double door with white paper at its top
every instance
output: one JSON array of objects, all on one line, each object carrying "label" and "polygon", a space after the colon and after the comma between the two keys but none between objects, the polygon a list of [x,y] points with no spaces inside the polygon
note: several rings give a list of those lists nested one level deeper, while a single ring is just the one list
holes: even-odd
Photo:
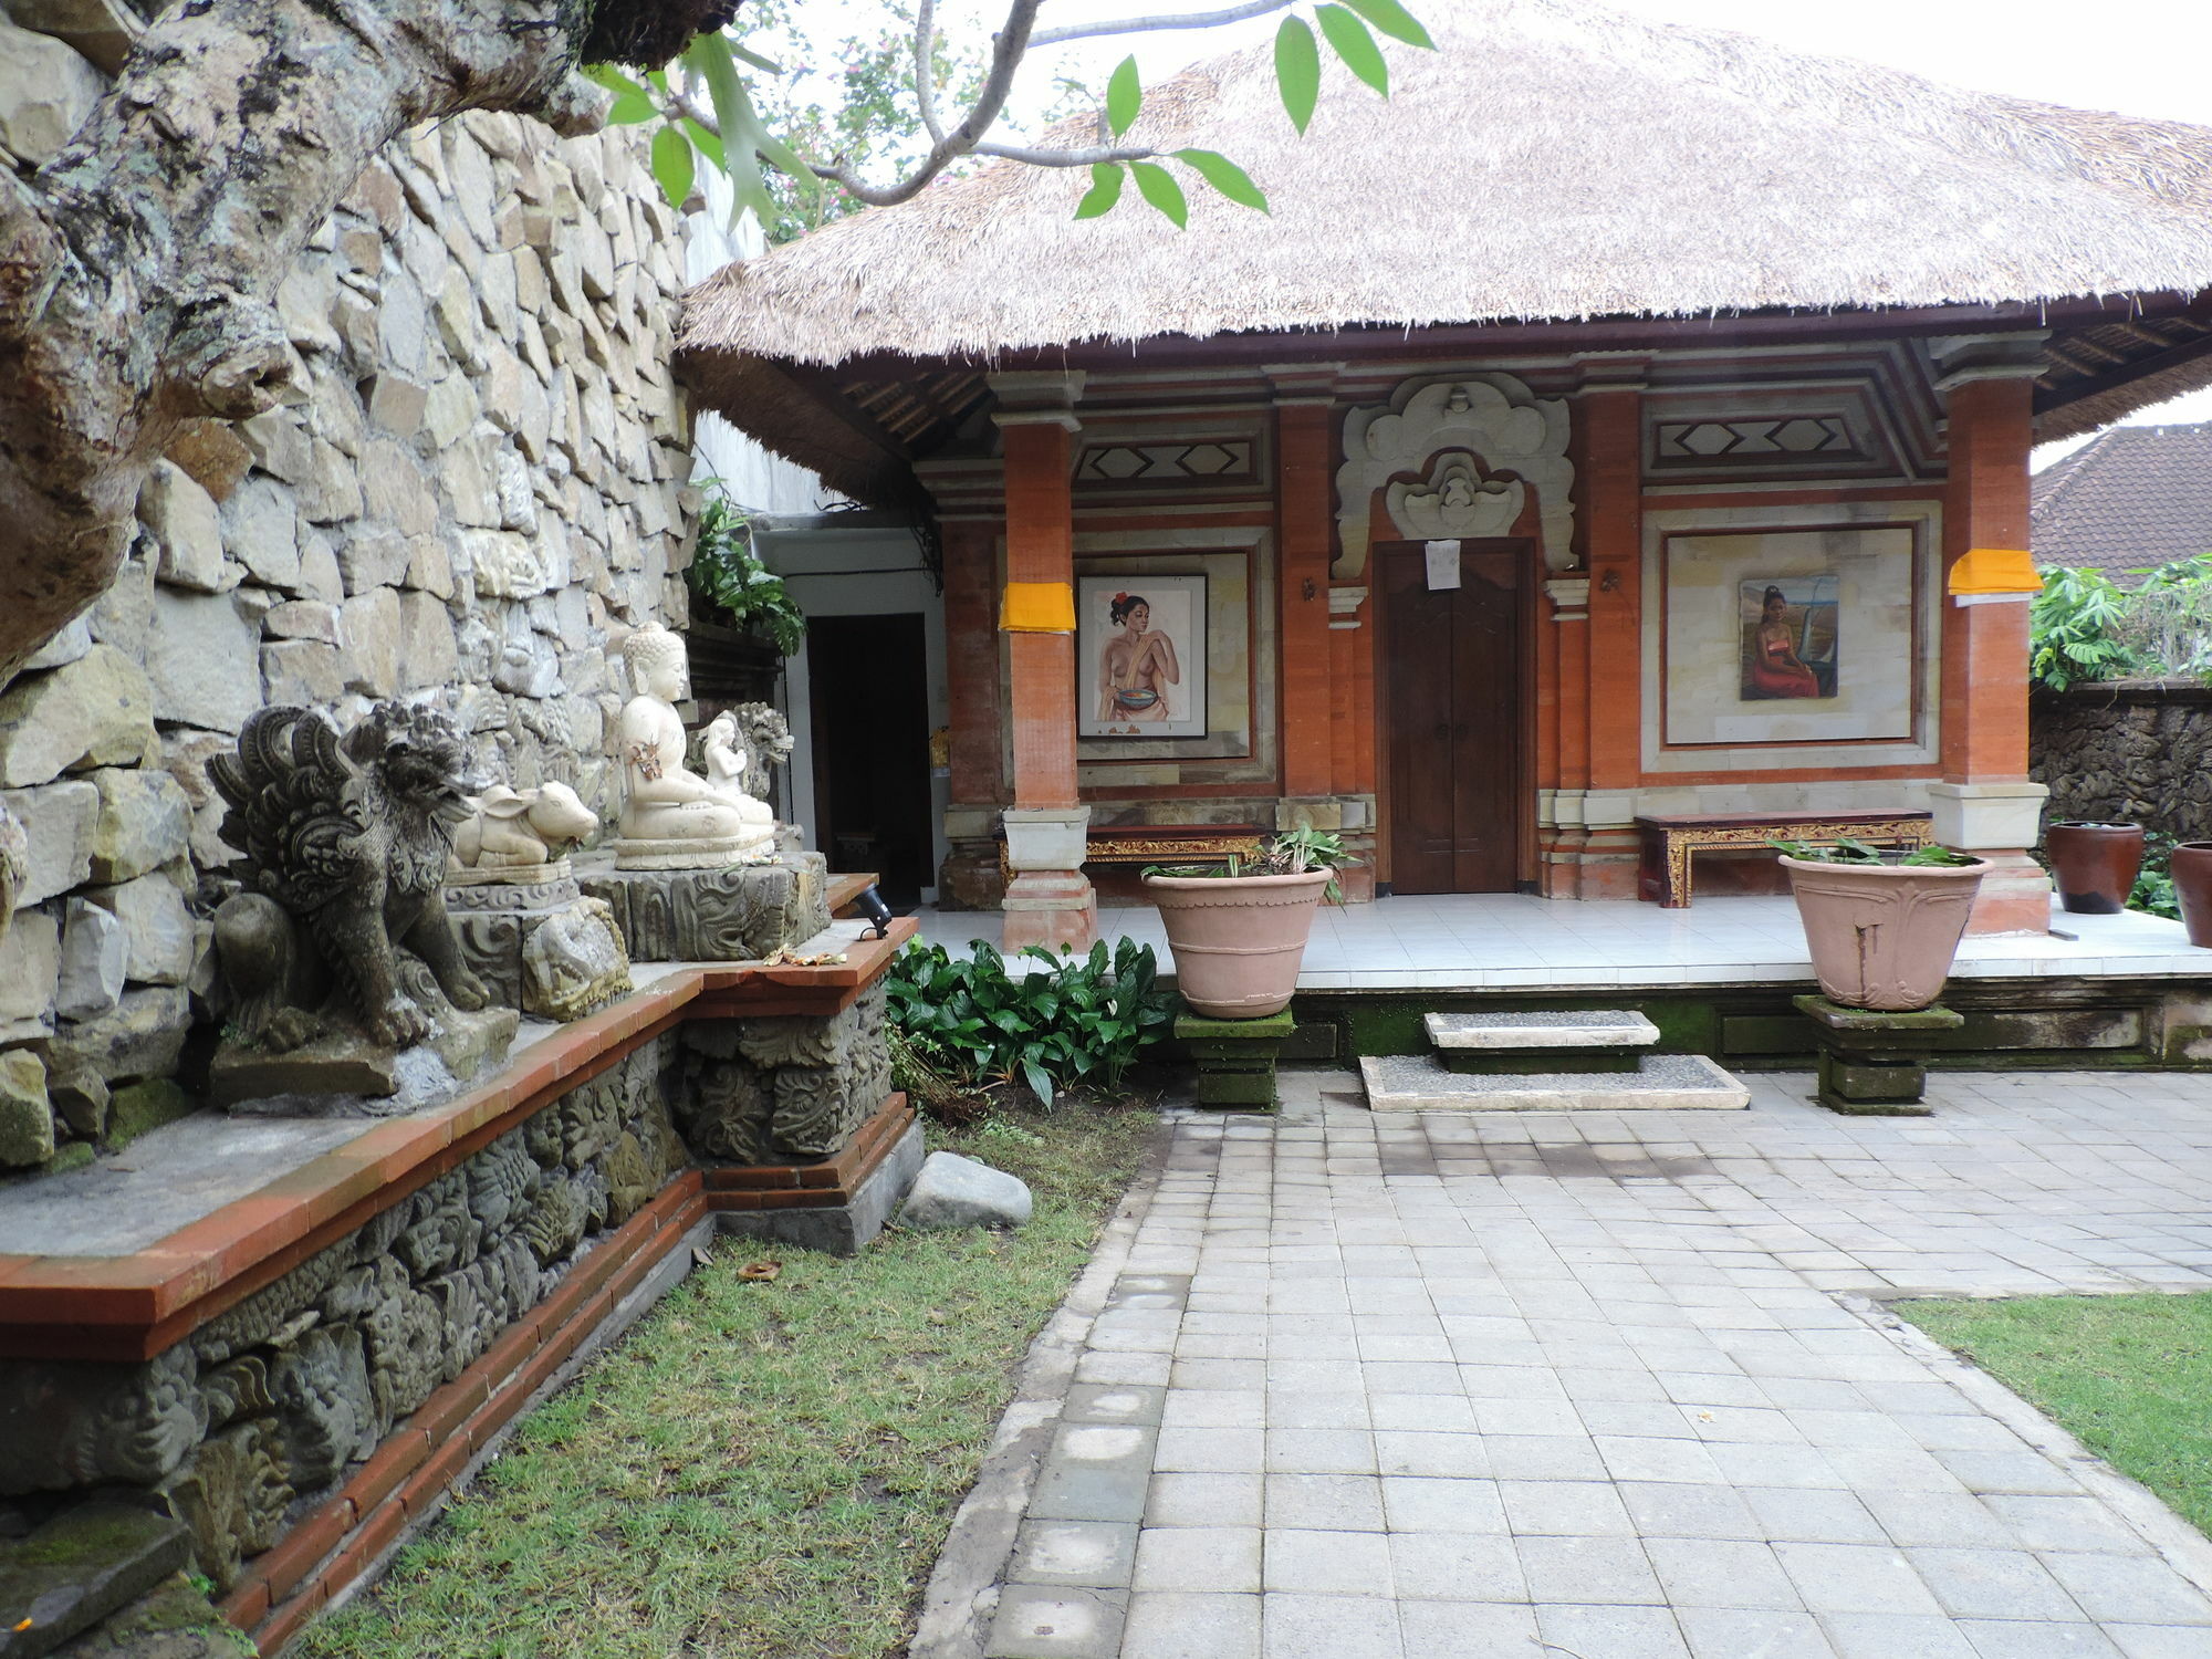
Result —
[{"label": "dark brown wooden double door with white paper at its top", "polygon": [[1511,894],[1528,818],[1522,657],[1528,544],[1462,542],[1431,586],[1420,542],[1376,549],[1396,894]]}]

